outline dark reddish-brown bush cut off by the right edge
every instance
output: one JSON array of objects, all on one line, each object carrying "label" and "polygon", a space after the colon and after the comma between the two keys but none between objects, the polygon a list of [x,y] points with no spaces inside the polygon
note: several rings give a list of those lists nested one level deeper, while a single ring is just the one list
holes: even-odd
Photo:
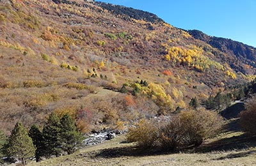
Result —
[{"label": "dark reddish-brown bush cut off by the right edge", "polygon": [[251,135],[256,134],[256,97],[248,100],[245,103],[245,109],[243,112],[240,113],[240,125],[244,132],[247,132]]}]

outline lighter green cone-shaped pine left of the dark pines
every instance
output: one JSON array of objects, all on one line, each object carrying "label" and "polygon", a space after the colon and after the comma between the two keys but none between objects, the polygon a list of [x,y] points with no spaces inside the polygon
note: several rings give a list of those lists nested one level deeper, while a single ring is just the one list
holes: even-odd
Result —
[{"label": "lighter green cone-shaped pine left of the dark pines", "polygon": [[26,164],[26,159],[35,155],[35,146],[28,132],[20,122],[16,123],[15,128],[6,144],[6,155],[19,158],[22,164]]}]

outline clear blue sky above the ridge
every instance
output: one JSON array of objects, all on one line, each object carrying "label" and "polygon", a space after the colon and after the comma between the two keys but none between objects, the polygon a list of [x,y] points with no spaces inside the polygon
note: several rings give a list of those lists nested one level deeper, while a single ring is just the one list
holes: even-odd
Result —
[{"label": "clear blue sky above the ridge", "polygon": [[256,47],[256,0],[101,1],[149,11],[172,26],[198,29]]}]

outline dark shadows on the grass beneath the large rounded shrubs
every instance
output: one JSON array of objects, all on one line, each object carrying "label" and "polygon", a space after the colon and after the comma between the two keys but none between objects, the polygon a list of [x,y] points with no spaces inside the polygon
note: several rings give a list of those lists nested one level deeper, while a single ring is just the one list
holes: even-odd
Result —
[{"label": "dark shadows on the grass beneath the large rounded shrubs", "polygon": [[[203,144],[202,146],[191,150],[181,149],[183,153],[207,153],[214,151],[232,151],[248,149],[250,147],[256,147],[256,136],[248,137],[248,135],[239,135],[230,138],[220,139],[209,144]],[[179,151],[163,151],[161,149],[147,149],[141,150],[135,146],[129,147],[115,147],[109,149],[102,149],[99,153],[95,154],[95,157],[102,158],[118,158],[121,156],[156,156],[156,155],[170,155],[173,153],[179,153]],[[216,160],[223,160],[225,158],[239,158],[248,156],[256,151],[241,152],[236,154],[229,154]]]}]

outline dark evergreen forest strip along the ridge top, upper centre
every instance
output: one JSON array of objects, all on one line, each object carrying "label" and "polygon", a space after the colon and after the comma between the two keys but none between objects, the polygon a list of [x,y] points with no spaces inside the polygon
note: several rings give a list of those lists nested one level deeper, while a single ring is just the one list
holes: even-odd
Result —
[{"label": "dark evergreen forest strip along the ridge top, upper centre", "polygon": [[[164,22],[162,19],[157,17],[157,15],[154,15],[153,13],[149,13],[148,11],[136,10],[134,8],[127,8],[125,6],[113,5],[109,3],[102,3],[102,2],[95,2],[95,3],[97,3],[101,8],[109,10],[116,15],[127,15],[132,19],[146,20],[152,23]],[[126,18],[126,19],[129,19],[129,18]]]}]

